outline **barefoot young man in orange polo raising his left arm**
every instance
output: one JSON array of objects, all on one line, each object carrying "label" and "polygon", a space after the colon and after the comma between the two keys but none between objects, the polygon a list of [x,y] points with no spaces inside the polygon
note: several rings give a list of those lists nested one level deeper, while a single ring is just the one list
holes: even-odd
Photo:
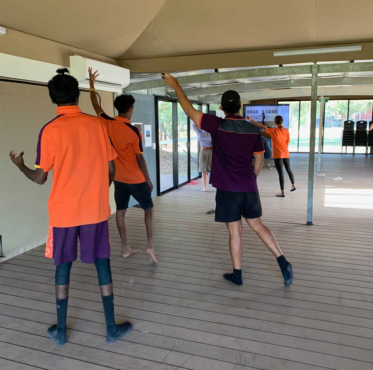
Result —
[{"label": "barefoot young man in orange polo raising his left arm", "polygon": [[157,263],[154,253],[154,209],[151,200],[153,184],[150,180],[145,158],[142,155],[141,132],[135,126],[132,126],[130,121],[134,113],[135,99],[128,94],[118,95],[114,101],[118,115],[114,118],[109,117],[98,104],[94,89],[98,71],[92,73],[92,68],[89,68],[88,72],[90,74],[90,94],[93,108],[98,118],[106,126],[112,145],[118,153],[118,157],[115,159],[114,186],[117,209],[116,223],[122,239],[123,257],[129,257],[132,253],[138,251],[137,248],[129,246],[126,232],[125,215],[129,198],[132,195],[145,211],[145,226],[148,237],[146,252],[149,254],[150,261]]}]

